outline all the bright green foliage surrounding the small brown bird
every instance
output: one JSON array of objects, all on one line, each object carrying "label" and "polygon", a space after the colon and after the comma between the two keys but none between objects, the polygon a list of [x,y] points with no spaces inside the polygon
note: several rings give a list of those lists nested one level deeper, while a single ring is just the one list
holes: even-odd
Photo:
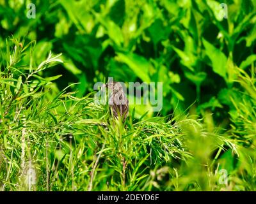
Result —
[{"label": "all the bright green foliage surrounding the small brown bird", "polygon": [[[255,191],[255,23],[250,0],[0,0],[0,189]],[[162,110],[114,119],[108,77],[163,82]]]}]

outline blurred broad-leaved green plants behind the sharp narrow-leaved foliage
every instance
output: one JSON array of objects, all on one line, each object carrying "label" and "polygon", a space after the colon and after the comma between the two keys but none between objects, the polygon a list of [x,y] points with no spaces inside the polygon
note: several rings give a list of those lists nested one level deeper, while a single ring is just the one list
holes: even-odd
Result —
[{"label": "blurred broad-leaved green plants behind the sharp narrow-leaved foliage", "polygon": [[[35,19],[27,17],[29,3]],[[228,18],[220,18],[220,3]],[[0,0],[0,48],[13,35],[36,40],[35,64],[50,50],[63,53],[65,63],[43,75],[61,74],[59,89],[79,82],[72,90],[79,97],[108,77],[163,82],[162,115],[193,104],[191,113],[213,112],[216,125],[228,128],[228,112],[236,112],[231,98],[241,87],[234,68],[255,66],[255,8],[250,0]],[[141,105],[136,115],[150,108]]]}]

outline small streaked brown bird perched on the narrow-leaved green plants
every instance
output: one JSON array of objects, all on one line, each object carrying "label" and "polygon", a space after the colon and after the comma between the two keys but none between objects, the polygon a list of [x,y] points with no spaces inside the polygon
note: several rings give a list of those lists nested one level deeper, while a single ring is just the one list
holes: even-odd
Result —
[{"label": "small streaked brown bird perched on the narrow-leaved green plants", "polygon": [[129,101],[125,96],[124,89],[120,82],[108,82],[106,87],[109,90],[109,107],[113,115],[122,117],[123,121],[127,118],[129,112]]}]

